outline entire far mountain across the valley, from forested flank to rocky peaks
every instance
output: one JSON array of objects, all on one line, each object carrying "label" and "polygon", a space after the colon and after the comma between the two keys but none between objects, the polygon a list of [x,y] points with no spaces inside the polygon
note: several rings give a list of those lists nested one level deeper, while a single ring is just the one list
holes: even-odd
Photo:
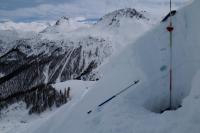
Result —
[{"label": "entire far mountain across the valley, from forested flank to rocky peaks", "polygon": [[[113,16],[112,14],[110,15]],[[142,19],[141,21],[135,20],[133,16],[136,15],[137,18],[143,15],[134,9],[118,10],[114,14],[117,15],[117,21],[122,22],[122,25],[115,27],[110,32],[96,25],[74,29],[73,25],[70,27],[71,20],[65,17],[31,38],[17,39],[6,45],[0,45],[0,47],[2,46],[0,72],[5,75],[0,80],[2,82],[0,85],[1,97],[7,97],[19,90],[29,90],[42,83],[71,79],[98,79],[100,75],[95,69],[98,69],[113,52],[120,51],[120,48],[129,40],[136,39],[138,35],[152,27],[151,24],[143,24]],[[107,22],[111,19],[104,17],[101,21]],[[125,20],[131,22],[131,25],[125,23]],[[138,27],[134,22],[140,26]],[[136,31],[136,27],[140,31],[129,36],[124,34],[125,31],[122,32],[124,29]],[[68,31],[68,28],[71,30]],[[25,66],[26,69],[22,70]]]}]

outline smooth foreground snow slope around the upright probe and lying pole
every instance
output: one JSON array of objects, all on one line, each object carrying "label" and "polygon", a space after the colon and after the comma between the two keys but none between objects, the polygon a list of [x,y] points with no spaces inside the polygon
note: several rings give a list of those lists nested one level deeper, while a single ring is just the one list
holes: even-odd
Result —
[{"label": "smooth foreground snow slope around the upright probe and lying pole", "polygon": [[[104,67],[106,76],[71,113],[59,112],[29,132],[199,133],[199,6],[196,0],[173,17],[173,106],[182,104],[180,109],[156,113],[169,106],[169,33],[167,23],[162,23]],[[128,92],[87,114],[138,79]]]}]

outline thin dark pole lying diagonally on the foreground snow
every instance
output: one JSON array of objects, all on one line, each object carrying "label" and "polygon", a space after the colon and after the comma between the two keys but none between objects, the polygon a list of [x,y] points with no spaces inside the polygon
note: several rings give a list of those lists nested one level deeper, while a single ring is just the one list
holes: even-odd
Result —
[{"label": "thin dark pole lying diagonally on the foreground snow", "polygon": [[[119,96],[120,94],[122,94],[123,92],[127,91],[130,87],[138,84],[140,81],[139,80],[136,80],[134,81],[134,83],[132,83],[131,85],[127,86],[125,89],[121,90],[120,92],[118,92],[117,94],[115,94],[114,96],[108,98],[107,100],[105,100],[104,102],[102,102],[101,104],[99,104],[97,107],[102,107],[104,106],[106,103],[110,102],[112,99],[116,98],[117,96]],[[89,110],[87,112],[87,114],[90,114],[92,113],[92,110]]]}]

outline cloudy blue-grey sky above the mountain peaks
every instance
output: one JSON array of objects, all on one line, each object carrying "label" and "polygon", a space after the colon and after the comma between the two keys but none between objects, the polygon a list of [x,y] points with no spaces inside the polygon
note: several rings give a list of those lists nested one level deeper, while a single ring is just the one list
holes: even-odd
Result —
[{"label": "cloudy blue-grey sky above the mountain peaks", "polygon": [[[169,0],[0,0],[0,21],[52,20],[60,16],[98,18],[105,13],[124,7],[155,10]],[[188,0],[172,0],[180,5]],[[145,9],[143,9],[145,8]],[[159,9],[160,10],[160,9]],[[158,10],[158,11],[159,11]]]}]

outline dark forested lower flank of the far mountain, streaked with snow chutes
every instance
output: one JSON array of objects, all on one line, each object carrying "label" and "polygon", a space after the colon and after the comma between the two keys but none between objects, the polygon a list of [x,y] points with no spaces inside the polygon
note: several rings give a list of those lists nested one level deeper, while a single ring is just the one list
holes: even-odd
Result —
[{"label": "dark forested lower flank of the far mountain, streaked with snow chutes", "polygon": [[0,71],[7,76],[1,78],[1,98],[42,83],[95,80],[93,70],[111,54],[110,50],[104,39],[90,36],[76,41],[38,37],[16,41],[16,46],[0,58]]}]

